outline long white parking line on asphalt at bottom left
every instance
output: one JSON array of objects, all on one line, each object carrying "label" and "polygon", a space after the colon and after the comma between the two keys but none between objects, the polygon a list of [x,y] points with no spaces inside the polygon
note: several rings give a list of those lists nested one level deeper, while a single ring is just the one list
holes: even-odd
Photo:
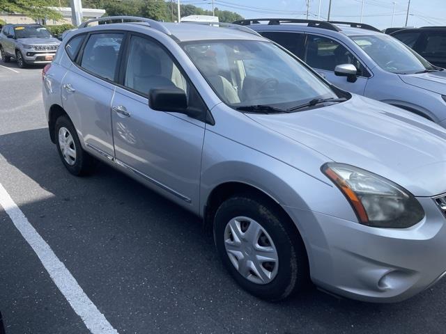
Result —
[{"label": "long white parking line on asphalt at bottom left", "polygon": [[49,245],[40,237],[40,234],[29,223],[22,210],[15,204],[13,199],[9,196],[6,189],[0,184],[0,205],[5,209],[8,216],[10,216],[15,227],[22,234],[22,237],[36,252],[43,267],[47,269],[49,276],[53,282],[65,296],[68,303],[91,333],[93,334],[117,334],[118,331],[109,324],[104,315],[96,308],[93,302],[85,294],[82,287],[77,284],[77,281],[72,277],[70,271],[54,254]]}]

